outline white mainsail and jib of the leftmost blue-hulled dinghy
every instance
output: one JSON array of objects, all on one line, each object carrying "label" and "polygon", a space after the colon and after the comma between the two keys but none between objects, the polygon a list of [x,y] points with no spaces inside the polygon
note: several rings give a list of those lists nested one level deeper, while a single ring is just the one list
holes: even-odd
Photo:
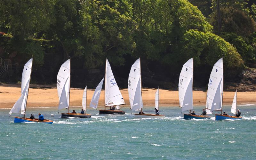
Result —
[{"label": "white mainsail and jib of the leftmost blue-hulled dinghy", "polygon": [[9,112],[10,115],[12,113],[19,113],[19,112],[23,115],[25,114],[32,63],[33,63],[33,58],[28,60],[28,62],[25,64],[23,68],[22,77],[21,77],[21,96],[13,105],[11,111]]}]

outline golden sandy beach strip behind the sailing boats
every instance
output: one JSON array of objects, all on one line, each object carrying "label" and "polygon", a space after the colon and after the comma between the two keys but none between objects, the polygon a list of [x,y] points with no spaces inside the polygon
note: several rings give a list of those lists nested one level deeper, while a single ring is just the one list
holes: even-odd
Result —
[{"label": "golden sandy beach strip behind the sailing boats", "polygon": [[[0,108],[12,108],[16,100],[20,97],[20,84],[0,84]],[[120,89],[126,105],[130,107],[128,90]],[[87,106],[89,106],[94,89],[87,89]],[[144,106],[155,105],[154,88],[143,88],[142,98]],[[234,97],[234,92],[224,92],[223,104],[231,105]],[[70,106],[82,106],[83,89],[70,89]],[[159,90],[160,106],[179,106],[178,91]],[[193,91],[194,105],[205,105],[206,92]],[[237,103],[252,103],[256,104],[256,92],[237,92]],[[35,85],[31,84],[28,94],[27,107],[57,107],[59,98],[57,88],[54,85]],[[104,90],[101,91],[99,107],[104,106]]]}]

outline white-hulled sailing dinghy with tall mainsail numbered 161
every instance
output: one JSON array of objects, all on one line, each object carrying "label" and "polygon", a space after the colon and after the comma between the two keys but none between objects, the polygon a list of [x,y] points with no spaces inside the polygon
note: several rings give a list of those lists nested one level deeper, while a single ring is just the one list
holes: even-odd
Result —
[{"label": "white-hulled sailing dinghy with tall mainsail numbered 161", "polygon": [[134,114],[137,118],[164,118],[164,115],[144,114],[142,112],[142,90],[141,90],[141,69],[140,58],[134,62],[130,70],[128,78],[128,92],[130,106],[133,111],[140,111],[139,114]]}]

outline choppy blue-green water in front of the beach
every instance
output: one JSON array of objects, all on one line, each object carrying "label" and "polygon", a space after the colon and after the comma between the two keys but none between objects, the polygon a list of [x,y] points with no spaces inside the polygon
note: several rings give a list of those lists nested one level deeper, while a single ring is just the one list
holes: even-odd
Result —
[{"label": "choppy blue-green water in front of the beach", "polygon": [[255,159],[256,106],[238,108],[244,118],[235,121],[183,120],[178,107],[160,108],[164,119],[134,118],[129,108],[106,116],[88,109],[92,118],[71,119],[60,118],[57,108],[27,109],[53,124],[14,124],[9,109],[1,109],[0,159]]}]

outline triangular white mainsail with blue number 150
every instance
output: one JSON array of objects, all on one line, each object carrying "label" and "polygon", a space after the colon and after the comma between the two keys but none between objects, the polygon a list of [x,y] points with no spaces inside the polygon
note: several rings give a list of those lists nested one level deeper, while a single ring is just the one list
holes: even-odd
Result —
[{"label": "triangular white mainsail with blue number 150", "polygon": [[106,60],[105,74],[105,105],[117,106],[125,104],[108,60]]}]

